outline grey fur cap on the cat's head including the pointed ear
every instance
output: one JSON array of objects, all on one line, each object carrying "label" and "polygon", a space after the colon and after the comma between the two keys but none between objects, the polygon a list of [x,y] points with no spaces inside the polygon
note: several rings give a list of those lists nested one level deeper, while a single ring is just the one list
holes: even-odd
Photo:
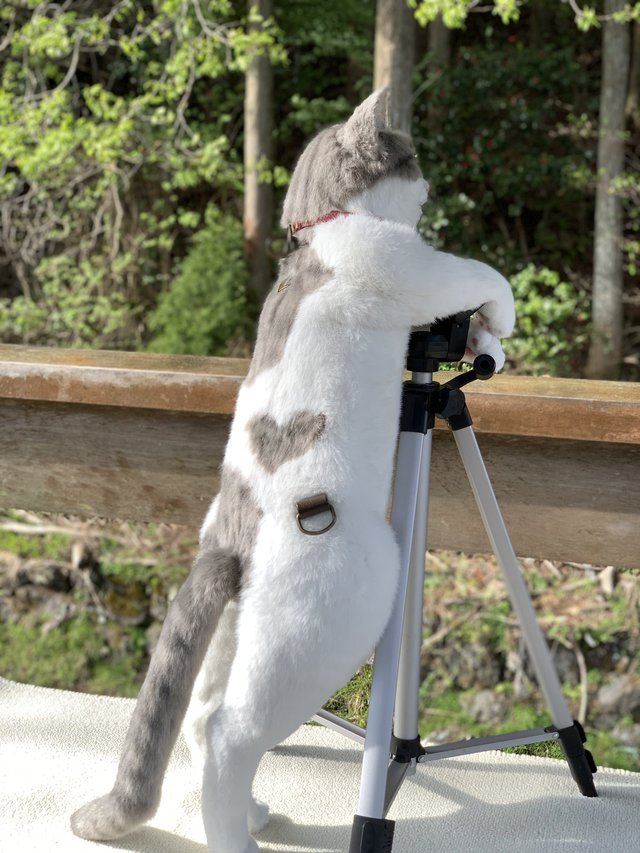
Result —
[{"label": "grey fur cap on the cat's head including the pointed ear", "polygon": [[411,138],[381,119],[384,93],[375,93],[345,124],[322,130],[303,151],[284,201],[283,228],[330,210],[348,210],[350,200],[387,177],[417,180],[422,171]]}]

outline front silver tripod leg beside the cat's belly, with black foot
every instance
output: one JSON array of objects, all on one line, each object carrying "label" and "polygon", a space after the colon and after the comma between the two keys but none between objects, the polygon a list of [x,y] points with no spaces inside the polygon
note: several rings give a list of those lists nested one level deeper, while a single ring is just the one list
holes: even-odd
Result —
[{"label": "front silver tripod leg beside the cat's belly, with black foot", "polygon": [[391,516],[400,544],[400,577],[389,623],[376,648],[360,798],[349,853],[389,853],[393,842],[394,823],[385,820],[386,788],[423,443],[422,433],[400,434]]}]

